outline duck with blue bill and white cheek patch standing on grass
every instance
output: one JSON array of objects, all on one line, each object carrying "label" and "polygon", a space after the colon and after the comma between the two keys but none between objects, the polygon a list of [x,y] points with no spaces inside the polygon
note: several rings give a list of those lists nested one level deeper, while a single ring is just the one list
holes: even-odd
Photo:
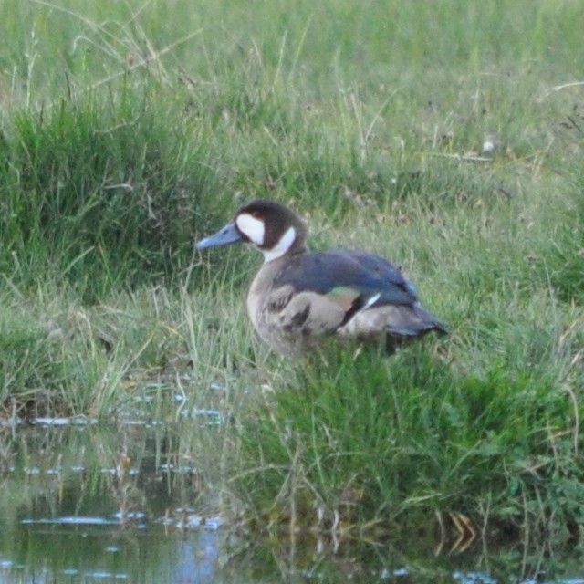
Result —
[{"label": "duck with blue bill and white cheek patch standing on grass", "polygon": [[255,199],[232,222],[195,244],[199,251],[245,243],[264,255],[249,288],[247,312],[271,349],[288,358],[324,339],[401,344],[446,326],[422,308],[415,287],[379,255],[364,251],[310,252],[308,228],[292,209]]}]

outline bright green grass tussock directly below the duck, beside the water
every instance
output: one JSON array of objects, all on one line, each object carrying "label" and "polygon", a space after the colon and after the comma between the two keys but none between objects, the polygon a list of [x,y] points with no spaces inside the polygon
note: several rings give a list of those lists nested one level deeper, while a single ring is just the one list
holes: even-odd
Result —
[{"label": "bright green grass tussock directly below the duck, beside the water", "polygon": [[439,513],[549,535],[584,513],[581,412],[546,368],[461,375],[413,350],[344,356],[274,391],[244,422],[233,481],[259,526],[355,535]]}]

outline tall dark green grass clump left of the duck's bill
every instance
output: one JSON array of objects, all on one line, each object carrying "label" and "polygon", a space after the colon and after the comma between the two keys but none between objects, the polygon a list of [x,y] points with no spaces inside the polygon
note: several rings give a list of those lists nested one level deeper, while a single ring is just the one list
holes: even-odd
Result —
[{"label": "tall dark green grass clump left of the duck's bill", "polygon": [[172,129],[172,105],[121,91],[106,105],[89,97],[15,116],[2,165],[2,265],[13,279],[50,269],[95,300],[188,263],[211,171],[187,178],[177,167],[197,147],[188,124]]}]

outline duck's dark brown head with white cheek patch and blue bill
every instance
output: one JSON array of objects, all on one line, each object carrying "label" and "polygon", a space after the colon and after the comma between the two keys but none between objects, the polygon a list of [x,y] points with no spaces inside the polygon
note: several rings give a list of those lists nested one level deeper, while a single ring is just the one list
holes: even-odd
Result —
[{"label": "duck's dark brown head with white cheek patch and blue bill", "polygon": [[246,243],[264,254],[264,261],[306,250],[307,227],[293,211],[281,203],[257,199],[245,204],[235,214],[233,223],[216,234],[205,237],[196,249],[209,249]]}]

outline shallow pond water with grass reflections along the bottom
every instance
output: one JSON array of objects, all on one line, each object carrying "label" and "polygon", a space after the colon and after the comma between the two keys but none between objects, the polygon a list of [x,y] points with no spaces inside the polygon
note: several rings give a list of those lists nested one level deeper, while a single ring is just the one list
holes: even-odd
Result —
[{"label": "shallow pond water with grass reflections along the bottom", "polygon": [[[254,540],[220,509],[213,428],[0,430],[0,584],[24,582],[584,583],[579,548]],[[451,542],[452,543],[452,542]]]}]

